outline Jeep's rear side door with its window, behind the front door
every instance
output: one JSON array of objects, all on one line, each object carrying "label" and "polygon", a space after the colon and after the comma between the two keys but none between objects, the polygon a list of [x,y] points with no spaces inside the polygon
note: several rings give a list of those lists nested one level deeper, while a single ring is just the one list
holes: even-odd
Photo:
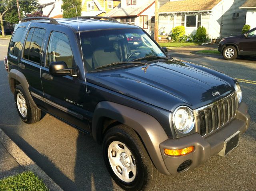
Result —
[{"label": "Jeep's rear side door with its window, behind the front door", "polygon": [[[42,63],[42,47],[44,46],[46,30],[44,28],[30,28],[23,45],[19,71],[24,74],[29,84],[29,90],[33,93],[43,96],[43,89],[40,78]],[[44,106],[44,102],[33,97],[35,103]]]}]

